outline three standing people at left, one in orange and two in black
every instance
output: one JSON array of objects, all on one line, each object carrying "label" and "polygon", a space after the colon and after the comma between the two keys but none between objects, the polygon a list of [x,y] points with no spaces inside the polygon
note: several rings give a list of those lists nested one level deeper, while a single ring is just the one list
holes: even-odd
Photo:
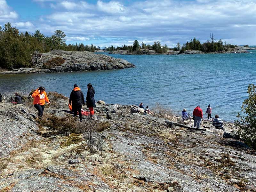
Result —
[{"label": "three standing people at left, one in orange and two in black", "polygon": [[[95,91],[92,84],[87,84],[87,89],[86,102],[84,101],[84,93],[77,84],[74,84],[74,89],[69,96],[69,108],[71,109],[72,113],[74,113],[75,117],[77,114],[79,115],[80,121],[82,121],[82,114],[93,117],[93,108],[96,107],[94,100]],[[51,104],[45,92],[45,88],[42,86],[37,88],[33,92],[32,97],[34,98],[33,105],[38,110],[38,118],[42,119],[45,103],[47,102],[49,105]],[[82,105],[84,106],[85,103],[87,104],[90,112],[86,113],[86,111],[82,109]]]}]

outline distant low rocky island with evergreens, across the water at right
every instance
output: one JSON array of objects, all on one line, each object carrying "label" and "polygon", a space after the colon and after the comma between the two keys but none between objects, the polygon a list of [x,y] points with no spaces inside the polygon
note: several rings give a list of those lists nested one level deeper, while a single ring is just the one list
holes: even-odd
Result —
[{"label": "distant low rocky island with evergreens, across the water at right", "polygon": [[133,45],[123,45],[121,47],[110,46],[104,48],[109,52],[109,54],[165,54],[165,55],[177,55],[177,54],[206,54],[206,53],[247,53],[248,50],[253,50],[256,48],[251,48],[249,45],[237,46],[234,44],[228,44],[220,39],[216,41],[214,35],[211,34],[211,40],[207,40],[205,43],[201,44],[196,37],[190,39],[190,42],[186,42],[183,45],[177,43],[175,47],[168,47],[166,44],[161,45],[161,42],[154,42],[153,45],[146,45],[143,42],[141,45],[138,40],[133,42]]}]

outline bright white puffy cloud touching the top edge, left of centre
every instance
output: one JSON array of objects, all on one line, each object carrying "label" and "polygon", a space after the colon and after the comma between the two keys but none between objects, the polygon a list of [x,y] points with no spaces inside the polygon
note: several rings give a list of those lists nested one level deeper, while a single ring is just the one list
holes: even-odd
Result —
[{"label": "bright white puffy cloud touching the top edge, left of centre", "polygon": [[111,13],[111,14],[124,13],[126,11],[124,5],[116,1],[110,1],[108,3],[104,3],[98,0],[97,5],[100,11]]}]

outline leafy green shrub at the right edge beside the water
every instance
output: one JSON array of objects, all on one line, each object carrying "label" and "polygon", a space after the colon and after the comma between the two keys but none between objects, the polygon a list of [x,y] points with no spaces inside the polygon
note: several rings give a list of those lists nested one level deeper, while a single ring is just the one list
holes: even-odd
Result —
[{"label": "leafy green shrub at the right edge beside the water", "polygon": [[244,115],[238,113],[236,126],[240,128],[238,133],[244,139],[244,141],[256,149],[256,85],[249,84],[248,99],[245,99],[241,107],[241,111]]}]

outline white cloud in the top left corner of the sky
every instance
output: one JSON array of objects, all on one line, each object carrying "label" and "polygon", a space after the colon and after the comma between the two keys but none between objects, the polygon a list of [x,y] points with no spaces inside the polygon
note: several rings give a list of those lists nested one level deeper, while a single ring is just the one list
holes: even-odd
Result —
[{"label": "white cloud in the top left corner of the sky", "polygon": [[7,22],[17,18],[18,14],[10,9],[6,1],[0,0],[0,21]]}]

